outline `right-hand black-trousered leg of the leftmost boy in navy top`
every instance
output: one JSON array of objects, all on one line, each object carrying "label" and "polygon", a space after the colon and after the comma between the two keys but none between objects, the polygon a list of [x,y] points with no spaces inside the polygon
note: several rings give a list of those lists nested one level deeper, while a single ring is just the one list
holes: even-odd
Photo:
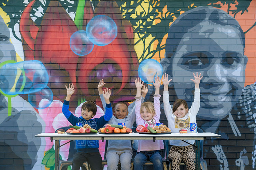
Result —
[{"label": "right-hand black-trousered leg of the leftmost boy in navy top", "polygon": [[103,167],[101,165],[102,157],[99,152],[88,153],[87,160],[88,160],[91,170],[102,170],[103,169]]}]

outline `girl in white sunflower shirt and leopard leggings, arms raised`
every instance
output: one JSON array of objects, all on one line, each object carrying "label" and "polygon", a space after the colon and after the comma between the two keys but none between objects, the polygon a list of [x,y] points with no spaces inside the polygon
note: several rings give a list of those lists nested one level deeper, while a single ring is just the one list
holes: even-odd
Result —
[{"label": "girl in white sunflower shirt and leopard leggings, arms raised", "polygon": [[[190,79],[195,83],[195,98],[194,102],[191,105],[191,108],[188,109],[187,102],[182,99],[177,99],[173,103],[173,110],[169,103],[169,91],[168,85],[170,80],[168,80],[168,74],[164,74],[162,78],[163,82],[163,108],[165,110],[165,115],[168,120],[168,127],[174,133],[179,133],[179,130],[186,129],[190,133],[190,123],[196,122],[196,115],[200,108],[200,89],[199,84],[201,79],[201,73],[193,73],[194,80]],[[194,144],[194,140],[186,140],[190,144]],[[179,170],[181,160],[186,164],[187,170],[195,170],[194,160],[195,152],[193,146],[189,145],[186,142],[181,140],[170,140],[170,145],[172,145],[168,157],[172,160],[172,169]]]}]

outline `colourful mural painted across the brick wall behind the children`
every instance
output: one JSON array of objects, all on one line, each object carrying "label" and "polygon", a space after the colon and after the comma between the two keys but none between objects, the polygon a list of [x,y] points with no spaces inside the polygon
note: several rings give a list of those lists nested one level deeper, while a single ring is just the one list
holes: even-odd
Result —
[{"label": "colourful mural painted across the brick wall behind the children", "polygon": [[[168,73],[170,102],[191,105],[187,80],[200,72],[198,127],[222,136],[204,141],[208,168],[255,169],[255,25],[255,0],[0,0],[0,166],[54,169],[54,142],[34,135],[70,124],[61,111],[68,83],[73,114],[93,100],[100,117],[101,79],[113,104],[131,107],[135,78],[151,101],[152,80]],[[68,153],[61,147],[63,160]]]}]

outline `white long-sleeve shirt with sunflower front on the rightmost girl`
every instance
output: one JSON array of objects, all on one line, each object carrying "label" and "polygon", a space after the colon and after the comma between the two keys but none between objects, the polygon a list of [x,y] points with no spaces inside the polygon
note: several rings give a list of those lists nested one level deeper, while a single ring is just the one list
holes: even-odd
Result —
[{"label": "white long-sleeve shirt with sunflower front on the rightmost girl", "polygon": [[[172,106],[169,103],[169,91],[163,91],[163,108],[165,110],[165,115],[168,120],[168,127],[173,133],[179,133],[179,130],[186,129],[190,133],[190,123],[196,122],[196,116],[200,108],[200,89],[195,88],[194,102],[188,113],[183,118],[177,118],[172,113]],[[185,140],[191,144],[195,143],[195,140]],[[188,146],[186,142],[181,140],[170,140],[170,145],[174,146]]]}]

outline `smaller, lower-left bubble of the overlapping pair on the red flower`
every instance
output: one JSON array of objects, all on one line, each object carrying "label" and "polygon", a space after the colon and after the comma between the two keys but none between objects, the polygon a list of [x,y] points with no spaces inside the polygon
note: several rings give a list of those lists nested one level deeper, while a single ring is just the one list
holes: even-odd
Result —
[{"label": "smaller, lower-left bubble of the overlapping pair on the red flower", "polygon": [[94,44],[88,39],[84,30],[73,33],[70,37],[69,45],[71,50],[79,56],[89,54],[94,48]]}]

